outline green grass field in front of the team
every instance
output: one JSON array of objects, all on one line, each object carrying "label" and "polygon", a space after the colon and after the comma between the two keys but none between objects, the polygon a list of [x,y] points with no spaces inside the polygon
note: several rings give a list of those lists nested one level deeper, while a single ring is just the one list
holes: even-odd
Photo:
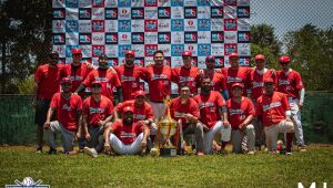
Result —
[{"label": "green grass field in front of the team", "polygon": [[333,187],[333,146],[310,145],[292,156],[105,156],[34,154],[0,147],[0,186],[32,177],[51,187]]}]

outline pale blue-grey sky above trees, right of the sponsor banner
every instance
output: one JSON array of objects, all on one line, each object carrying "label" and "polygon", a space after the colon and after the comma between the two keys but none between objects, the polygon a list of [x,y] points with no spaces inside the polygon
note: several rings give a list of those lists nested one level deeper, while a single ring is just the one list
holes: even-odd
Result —
[{"label": "pale blue-grey sky above trees, right of the sponsor banner", "polygon": [[306,23],[333,25],[333,0],[251,0],[251,24],[270,23],[282,39],[287,31]]}]

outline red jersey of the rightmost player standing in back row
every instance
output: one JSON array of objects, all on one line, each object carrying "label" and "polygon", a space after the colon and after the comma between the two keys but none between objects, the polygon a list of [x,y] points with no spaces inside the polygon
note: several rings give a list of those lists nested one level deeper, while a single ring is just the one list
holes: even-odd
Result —
[{"label": "red jersey of the rightmost player standing in back row", "polygon": [[276,72],[278,92],[285,93],[287,97],[300,100],[300,90],[304,88],[302,77],[299,72],[290,69],[285,74],[283,71]]}]

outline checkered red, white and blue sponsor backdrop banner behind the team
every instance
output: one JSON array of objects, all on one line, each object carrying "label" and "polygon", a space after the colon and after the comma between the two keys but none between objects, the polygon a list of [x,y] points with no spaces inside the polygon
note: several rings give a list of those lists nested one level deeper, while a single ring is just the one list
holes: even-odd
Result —
[{"label": "checkered red, white and blue sponsor backdrop banner behind the team", "polygon": [[140,65],[158,49],[172,67],[182,64],[184,50],[202,69],[209,54],[228,66],[231,52],[248,65],[249,20],[250,0],[53,0],[53,50],[70,63],[71,49],[81,48],[94,66],[102,53],[110,65],[122,64],[129,49]]}]

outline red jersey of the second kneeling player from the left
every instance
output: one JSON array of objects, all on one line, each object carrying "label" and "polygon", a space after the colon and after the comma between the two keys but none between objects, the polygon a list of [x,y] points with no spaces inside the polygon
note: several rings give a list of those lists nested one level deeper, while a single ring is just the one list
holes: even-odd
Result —
[{"label": "red jersey of the second kneeling player from the left", "polygon": [[93,96],[89,96],[83,101],[82,115],[87,116],[88,125],[99,126],[100,121],[104,121],[112,115],[113,104],[107,96],[101,96],[101,100],[97,102]]}]

